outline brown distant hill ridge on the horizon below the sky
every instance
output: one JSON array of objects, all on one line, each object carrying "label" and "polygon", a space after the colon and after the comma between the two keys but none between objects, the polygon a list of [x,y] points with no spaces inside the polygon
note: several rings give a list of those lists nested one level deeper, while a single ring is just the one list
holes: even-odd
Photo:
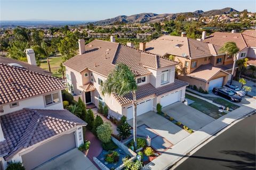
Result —
[{"label": "brown distant hill ridge on the horizon below the sky", "polygon": [[134,14],[130,16],[126,15],[119,15],[116,16],[115,18],[110,18],[106,20],[101,20],[101,21],[96,21],[92,22],[93,24],[96,25],[108,25],[108,24],[114,24],[117,22],[124,22],[124,23],[154,23],[154,22],[159,22],[163,21],[165,18],[166,19],[175,19],[178,15],[180,14],[185,14],[188,16],[194,16],[197,17],[199,15],[204,15],[204,16],[210,16],[210,15],[221,15],[221,14],[229,14],[230,12],[239,12],[236,11],[235,9],[231,7],[226,7],[221,10],[210,10],[210,11],[202,11],[202,10],[197,10],[195,12],[184,12],[184,13],[173,13],[173,14],[155,14],[155,13],[141,13],[141,14]]}]

